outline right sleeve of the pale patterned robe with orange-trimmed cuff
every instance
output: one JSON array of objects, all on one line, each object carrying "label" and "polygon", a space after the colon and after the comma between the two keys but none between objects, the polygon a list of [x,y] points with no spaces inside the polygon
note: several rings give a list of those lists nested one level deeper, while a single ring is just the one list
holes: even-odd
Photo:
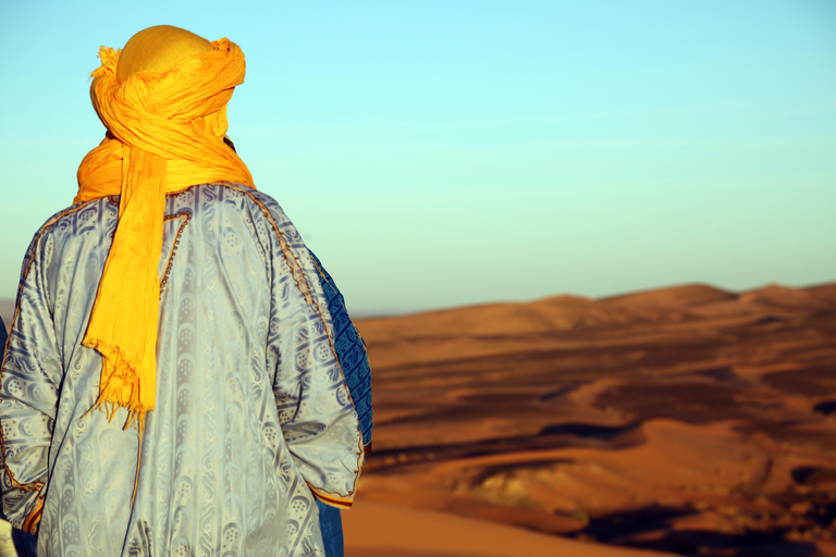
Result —
[{"label": "right sleeve of the pale patterned robe with orange-trimmed cuff", "polygon": [[268,366],[285,443],[321,502],[351,507],[364,461],[362,435],[316,265],[278,206],[268,227],[271,312]]}]

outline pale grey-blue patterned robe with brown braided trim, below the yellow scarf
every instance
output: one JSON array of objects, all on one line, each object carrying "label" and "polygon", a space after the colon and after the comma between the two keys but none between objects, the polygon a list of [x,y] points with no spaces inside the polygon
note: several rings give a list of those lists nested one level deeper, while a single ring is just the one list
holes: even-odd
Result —
[{"label": "pale grey-blue patterned robe with brown braided trim, below the yellow scarf", "polygon": [[33,239],[0,372],[3,512],[45,556],[323,555],[314,494],[351,505],[364,451],[316,263],[246,186],[194,186],[165,209],[142,440],[125,409],[90,411],[101,357],[81,344],[118,198]]}]

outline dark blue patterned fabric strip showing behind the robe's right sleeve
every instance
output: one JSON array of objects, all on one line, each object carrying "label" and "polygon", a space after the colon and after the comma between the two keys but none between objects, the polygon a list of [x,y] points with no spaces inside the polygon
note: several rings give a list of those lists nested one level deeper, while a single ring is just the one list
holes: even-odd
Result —
[{"label": "dark blue patterned fabric strip showing behind the robe's right sleeve", "polygon": [[310,257],[317,264],[317,271],[319,271],[319,277],[322,282],[322,292],[328,298],[328,310],[331,312],[334,334],[336,335],[334,339],[336,356],[340,358],[345,382],[348,384],[348,392],[360,420],[362,445],[368,455],[371,451],[371,368],[369,368],[369,358],[366,354],[366,343],[348,317],[345,298],[337,289],[336,283],[312,251]]}]

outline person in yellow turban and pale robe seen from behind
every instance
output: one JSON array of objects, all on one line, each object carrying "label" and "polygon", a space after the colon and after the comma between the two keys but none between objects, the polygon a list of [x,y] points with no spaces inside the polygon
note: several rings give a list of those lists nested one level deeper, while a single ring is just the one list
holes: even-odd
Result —
[{"label": "person in yellow turban and pale robe seen from behind", "polygon": [[351,506],[370,442],[368,362],[224,141],[244,55],[171,26],[99,55],[107,136],[33,238],[0,367],[3,513],[46,556],[323,555],[318,505]]}]

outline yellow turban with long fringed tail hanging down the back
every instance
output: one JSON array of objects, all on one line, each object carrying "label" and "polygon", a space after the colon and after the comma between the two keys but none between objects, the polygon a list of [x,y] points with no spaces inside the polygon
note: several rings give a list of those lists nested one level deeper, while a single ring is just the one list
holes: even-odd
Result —
[{"label": "yellow turban with long fringed tail hanging down the back", "polygon": [[83,344],[102,356],[97,407],[143,425],[157,396],[157,332],[165,194],[229,181],[254,186],[224,144],[226,103],[244,83],[244,53],[185,29],[150,27],[123,51],[102,47],[93,104],[108,128],[78,168],[75,202],[120,197],[119,224]]}]

